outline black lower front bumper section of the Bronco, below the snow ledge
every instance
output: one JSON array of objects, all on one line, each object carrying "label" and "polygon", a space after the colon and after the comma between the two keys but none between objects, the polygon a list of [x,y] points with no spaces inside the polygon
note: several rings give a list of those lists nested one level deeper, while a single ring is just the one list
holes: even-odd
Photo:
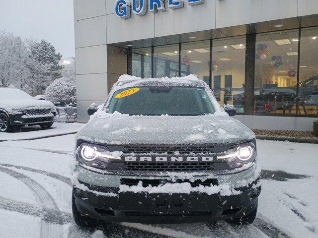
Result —
[{"label": "black lower front bumper section of the Bronco, below the snow ledge", "polygon": [[[78,210],[91,218],[148,224],[192,223],[239,218],[255,209],[259,193],[260,186],[232,196],[198,192],[172,195],[126,192],[116,197],[107,197],[74,188]],[[184,202],[182,197],[186,197]],[[158,202],[154,200],[155,198]]]}]

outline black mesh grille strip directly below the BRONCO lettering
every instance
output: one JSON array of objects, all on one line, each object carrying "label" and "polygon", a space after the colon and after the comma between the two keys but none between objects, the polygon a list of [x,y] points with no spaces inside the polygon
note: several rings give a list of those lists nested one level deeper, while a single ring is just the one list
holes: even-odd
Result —
[{"label": "black mesh grille strip directly below the BRONCO lettering", "polygon": [[127,171],[211,171],[214,170],[213,162],[200,162],[200,163],[140,163],[140,162],[127,162]]}]

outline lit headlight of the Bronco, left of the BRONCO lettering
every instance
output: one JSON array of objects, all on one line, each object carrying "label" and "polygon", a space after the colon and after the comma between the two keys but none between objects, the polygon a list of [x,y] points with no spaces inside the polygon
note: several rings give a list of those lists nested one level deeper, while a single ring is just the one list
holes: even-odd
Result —
[{"label": "lit headlight of the Bronco, left of the BRONCO lettering", "polygon": [[110,152],[106,146],[82,143],[78,149],[79,163],[105,168],[110,161],[120,161],[121,152]]}]

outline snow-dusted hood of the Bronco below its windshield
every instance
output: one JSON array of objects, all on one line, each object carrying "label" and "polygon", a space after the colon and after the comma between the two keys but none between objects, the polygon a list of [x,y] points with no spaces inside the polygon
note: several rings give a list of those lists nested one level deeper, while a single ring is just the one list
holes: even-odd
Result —
[{"label": "snow-dusted hood of the Bronco below its windshield", "polygon": [[98,111],[81,128],[78,139],[108,144],[233,143],[255,138],[244,124],[228,116],[128,116]]}]

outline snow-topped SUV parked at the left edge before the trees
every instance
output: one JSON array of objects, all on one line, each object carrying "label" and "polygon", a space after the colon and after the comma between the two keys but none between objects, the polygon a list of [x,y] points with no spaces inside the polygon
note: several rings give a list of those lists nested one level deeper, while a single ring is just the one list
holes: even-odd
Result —
[{"label": "snow-topped SUV parked at the left edge before the trees", "polygon": [[26,125],[49,128],[55,121],[53,103],[36,100],[26,92],[14,88],[0,88],[0,131]]}]

